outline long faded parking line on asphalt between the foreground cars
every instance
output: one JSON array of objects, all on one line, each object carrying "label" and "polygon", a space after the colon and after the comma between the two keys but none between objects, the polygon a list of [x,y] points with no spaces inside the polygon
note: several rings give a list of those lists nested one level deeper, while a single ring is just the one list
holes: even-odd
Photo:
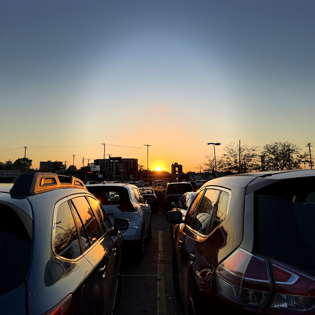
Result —
[{"label": "long faded parking line on asphalt between the foreground cars", "polygon": [[157,315],[166,315],[165,300],[165,277],[164,277],[164,257],[163,257],[163,234],[158,232],[158,261],[157,261]]}]

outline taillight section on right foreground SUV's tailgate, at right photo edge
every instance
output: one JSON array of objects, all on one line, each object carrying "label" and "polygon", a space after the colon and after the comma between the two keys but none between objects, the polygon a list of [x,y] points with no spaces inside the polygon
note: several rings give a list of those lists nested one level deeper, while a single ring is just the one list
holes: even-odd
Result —
[{"label": "taillight section on right foreground SUV's tailgate, at right photo edge", "polygon": [[315,279],[273,262],[275,296],[271,308],[306,311],[315,306]]}]

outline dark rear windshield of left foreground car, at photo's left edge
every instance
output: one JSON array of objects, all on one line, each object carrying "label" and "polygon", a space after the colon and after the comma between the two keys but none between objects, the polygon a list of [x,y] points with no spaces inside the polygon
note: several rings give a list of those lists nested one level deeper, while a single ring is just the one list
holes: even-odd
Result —
[{"label": "dark rear windshield of left foreground car, at photo's left edge", "polygon": [[0,295],[22,284],[27,273],[31,250],[31,218],[21,209],[19,215],[0,204]]}]

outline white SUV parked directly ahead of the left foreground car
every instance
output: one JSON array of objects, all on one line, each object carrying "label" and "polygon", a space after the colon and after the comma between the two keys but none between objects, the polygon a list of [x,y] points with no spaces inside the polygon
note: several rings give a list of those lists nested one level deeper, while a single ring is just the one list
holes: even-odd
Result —
[{"label": "white SUV parked directly ahead of the left foreground car", "polygon": [[151,207],[139,189],[130,184],[99,184],[87,186],[105,209],[111,222],[122,217],[130,221],[128,230],[123,231],[125,242],[135,245],[140,258],[144,256],[146,236],[152,237]]}]

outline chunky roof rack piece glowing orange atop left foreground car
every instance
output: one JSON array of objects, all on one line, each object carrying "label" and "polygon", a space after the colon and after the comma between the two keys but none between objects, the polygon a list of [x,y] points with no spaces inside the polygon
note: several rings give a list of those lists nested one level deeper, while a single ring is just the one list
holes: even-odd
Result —
[{"label": "chunky roof rack piece glowing orange atop left foreground car", "polygon": [[12,186],[10,192],[37,195],[60,188],[82,188],[87,190],[82,180],[73,176],[56,173],[22,173]]}]

